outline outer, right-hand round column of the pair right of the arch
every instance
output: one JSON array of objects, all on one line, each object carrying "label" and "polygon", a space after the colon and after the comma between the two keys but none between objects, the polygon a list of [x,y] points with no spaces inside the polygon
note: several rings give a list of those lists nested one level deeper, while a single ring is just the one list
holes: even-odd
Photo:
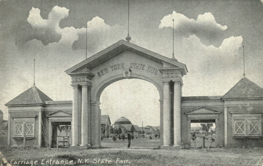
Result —
[{"label": "outer, right-hand round column of the pair right of the arch", "polygon": [[174,146],[181,144],[181,83],[174,84]]}]

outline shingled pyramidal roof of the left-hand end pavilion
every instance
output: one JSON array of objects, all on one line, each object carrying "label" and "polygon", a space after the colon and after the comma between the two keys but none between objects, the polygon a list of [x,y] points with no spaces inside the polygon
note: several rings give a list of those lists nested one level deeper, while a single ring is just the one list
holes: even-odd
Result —
[{"label": "shingled pyramidal roof of the left-hand end pavilion", "polygon": [[45,101],[53,100],[33,85],[5,105],[44,104]]}]

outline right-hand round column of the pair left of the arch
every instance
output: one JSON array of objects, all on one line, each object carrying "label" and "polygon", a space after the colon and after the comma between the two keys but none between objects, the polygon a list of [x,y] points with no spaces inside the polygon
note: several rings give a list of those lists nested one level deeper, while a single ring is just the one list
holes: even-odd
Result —
[{"label": "right-hand round column of the pair left of the arch", "polygon": [[88,145],[88,85],[82,85],[81,146]]}]

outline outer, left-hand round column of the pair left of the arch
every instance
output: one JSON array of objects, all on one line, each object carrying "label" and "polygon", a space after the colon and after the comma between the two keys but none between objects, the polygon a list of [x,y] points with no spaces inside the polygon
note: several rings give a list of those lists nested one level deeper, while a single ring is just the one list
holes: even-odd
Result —
[{"label": "outer, left-hand round column of the pair left of the arch", "polygon": [[79,96],[78,85],[73,87],[73,104],[72,104],[72,146],[79,145]]}]

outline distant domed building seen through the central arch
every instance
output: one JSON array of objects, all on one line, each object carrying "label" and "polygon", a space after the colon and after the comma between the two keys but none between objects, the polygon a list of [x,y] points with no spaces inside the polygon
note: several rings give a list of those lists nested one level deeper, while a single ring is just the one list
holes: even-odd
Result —
[{"label": "distant domed building seen through the central arch", "polygon": [[132,125],[132,122],[125,117],[121,117],[119,119],[117,119],[114,123],[114,125],[112,125],[112,128],[114,130],[121,128],[122,133],[128,133],[128,132],[135,132],[135,128]]}]

